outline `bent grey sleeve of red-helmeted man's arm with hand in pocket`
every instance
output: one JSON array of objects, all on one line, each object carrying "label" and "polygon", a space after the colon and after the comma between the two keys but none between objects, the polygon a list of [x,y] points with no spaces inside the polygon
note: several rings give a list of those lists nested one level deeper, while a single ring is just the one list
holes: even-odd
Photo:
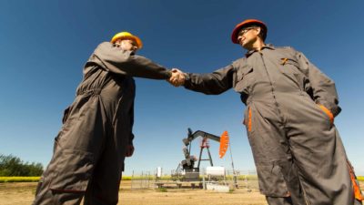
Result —
[{"label": "bent grey sleeve of red-helmeted man's arm with hand in pocket", "polygon": [[297,56],[300,67],[306,70],[315,102],[328,108],[334,117],[338,116],[341,108],[339,108],[339,97],[334,81],[310,63],[302,53],[298,52]]}]

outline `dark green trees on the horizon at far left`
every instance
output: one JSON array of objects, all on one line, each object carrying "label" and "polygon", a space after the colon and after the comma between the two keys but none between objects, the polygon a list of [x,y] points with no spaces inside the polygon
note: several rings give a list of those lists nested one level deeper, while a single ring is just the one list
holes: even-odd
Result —
[{"label": "dark green trees on the horizon at far left", "polygon": [[41,163],[28,163],[13,156],[0,154],[0,177],[35,177],[41,176],[43,165]]}]

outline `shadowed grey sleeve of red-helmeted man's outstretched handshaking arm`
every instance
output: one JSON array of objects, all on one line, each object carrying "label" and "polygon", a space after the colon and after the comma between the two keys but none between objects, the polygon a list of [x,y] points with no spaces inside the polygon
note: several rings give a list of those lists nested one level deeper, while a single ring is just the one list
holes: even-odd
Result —
[{"label": "shadowed grey sleeve of red-helmeted man's outstretched handshaking arm", "polygon": [[184,86],[207,95],[218,95],[233,87],[235,78],[236,69],[228,65],[209,74],[188,73]]}]

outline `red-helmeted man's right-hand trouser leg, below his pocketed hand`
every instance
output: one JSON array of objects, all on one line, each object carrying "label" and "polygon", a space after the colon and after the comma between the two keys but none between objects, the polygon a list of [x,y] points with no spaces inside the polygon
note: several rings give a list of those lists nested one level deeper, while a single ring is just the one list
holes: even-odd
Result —
[{"label": "red-helmeted man's right-hand trouser leg, below his pocketed hand", "polygon": [[301,128],[303,135],[290,138],[305,198],[309,205],[354,204],[339,133],[335,128],[317,127]]}]

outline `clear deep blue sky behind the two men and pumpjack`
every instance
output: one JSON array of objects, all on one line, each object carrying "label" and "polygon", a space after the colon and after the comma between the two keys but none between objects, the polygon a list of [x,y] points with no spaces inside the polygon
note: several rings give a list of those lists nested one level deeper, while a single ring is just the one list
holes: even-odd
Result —
[{"label": "clear deep blue sky behind the two men and pumpjack", "polygon": [[[364,175],[363,8],[362,0],[1,1],[0,153],[48,163],[86,59],[117,32],[139,36],[144,48],[138,54],[161,65],[209,73],[245,54],[231,43],[231,31],[258,18],[268,24],[268,43],[295,47],[335,80],[343,109],[336,125]],[[126,159],[126,174],[176,169],[187,128],[227,130],[236,168],[254,169],[244,108],[233,90],[206,96],[136,78],[136,152]],[[229,158],[218,159],[218,144],[210,144],[214,164],[230,168]]]}]

